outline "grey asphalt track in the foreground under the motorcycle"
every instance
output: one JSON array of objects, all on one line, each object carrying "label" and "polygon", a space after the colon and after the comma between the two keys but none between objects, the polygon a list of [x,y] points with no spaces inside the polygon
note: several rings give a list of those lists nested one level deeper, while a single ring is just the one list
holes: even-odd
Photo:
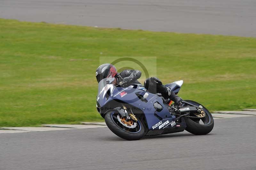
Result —
[{"label": "grey asphalt track in the foreground under the motorcycle", "polygon": [[255,170],[256,116],[125,141],[108,128],[0,134],[1,170]]}]

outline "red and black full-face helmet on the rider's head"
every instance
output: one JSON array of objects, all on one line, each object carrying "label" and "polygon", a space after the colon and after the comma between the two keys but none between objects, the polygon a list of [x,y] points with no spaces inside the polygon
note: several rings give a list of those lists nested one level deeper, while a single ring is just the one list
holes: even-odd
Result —
[{"label": "red and black full-face helmet on the rider's head", "polygon": [[96,70],[96,79],[98,83],[107,77],[115,77],[117,74],[116,67],[112,64],[102,64]]}]

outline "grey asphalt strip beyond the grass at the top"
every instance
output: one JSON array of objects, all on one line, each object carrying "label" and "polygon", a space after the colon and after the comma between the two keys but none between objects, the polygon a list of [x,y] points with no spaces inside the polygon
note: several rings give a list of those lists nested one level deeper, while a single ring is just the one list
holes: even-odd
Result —
[{"label": "grey asphalt strip beyond the grass at the top", "polygon": [[0,18],[256,37],[255,0],[0,0]]}]

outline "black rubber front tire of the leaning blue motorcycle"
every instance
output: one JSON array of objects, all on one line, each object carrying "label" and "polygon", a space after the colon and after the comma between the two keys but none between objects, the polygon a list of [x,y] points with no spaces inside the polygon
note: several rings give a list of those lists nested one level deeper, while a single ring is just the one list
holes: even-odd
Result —
[{"label": "black rubber front tire of the leaning blue motorcycle", "polygon": [[[122,127],[118,126],[118,122],[116,119],[113,119],[115,115],[118,115],[115,111],[109,111],[105,114],[104,119],[108,126],[108,128],[117,136],[125,139],[125,140],[139,140],[146,134],[146,129],[141,120],[138,119],[137,126],[139,126],[137,132],[129,132]],[[114,117],[115,118],[115,117]],[[128,129],[129,130],[129,129]]]}]

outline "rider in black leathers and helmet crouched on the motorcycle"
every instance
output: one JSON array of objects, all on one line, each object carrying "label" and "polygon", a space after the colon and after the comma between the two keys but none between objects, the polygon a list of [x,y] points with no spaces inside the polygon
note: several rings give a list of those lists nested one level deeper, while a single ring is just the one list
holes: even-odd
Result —
[{"label": "rider in black leathers and helmet crouched on the motorcycle", "polygon": [[125,82],[122,87],[128,87],[130,85],[137,84],[138,89],[148,91],[149,93],[161,93],[164,98],[169,98],[174,101],[174,104],[179,106],[182,98],[176,96],[168,87],[156,77],[147,78],[144,82],[144,86],[138,81],[141,76],[139,70],[124,70],[121,73],[117,73],[116,67],[112,64],[102,64],[96,69],[96,79],[98,83],[107,77],[114,77],[115,81],[112,82],[115,86],[120,82]]}]

